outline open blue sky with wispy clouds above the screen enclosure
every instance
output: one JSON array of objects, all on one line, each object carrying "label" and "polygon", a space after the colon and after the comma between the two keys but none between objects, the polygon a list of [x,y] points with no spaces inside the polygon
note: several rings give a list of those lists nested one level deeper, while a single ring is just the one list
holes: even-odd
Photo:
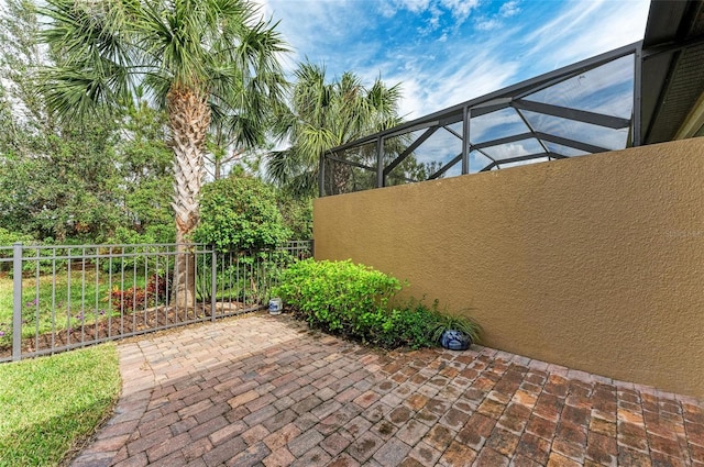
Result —
[{"label": "open blue sky with wispy clouds above the screen enclosure", "polygon": [[402,82],[413,120],[642,38],[649,0],[257,0],[331,79]]}]

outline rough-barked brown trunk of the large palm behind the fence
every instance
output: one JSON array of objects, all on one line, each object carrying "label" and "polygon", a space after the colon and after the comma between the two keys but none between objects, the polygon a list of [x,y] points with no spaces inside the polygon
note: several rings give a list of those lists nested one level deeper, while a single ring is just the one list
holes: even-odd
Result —
[{"label": "rough-barked brown trunk of the large palm behind the fence", "polygon": [[174,304],[196,304],[196,260],[189,245],[190,233],[198,223],[198,203],[204,175],[204,151],[210,108],[199,92],[178,86],[166,94],[168,122],[174,149],[174,200],[176,213],[176,270]]}]

